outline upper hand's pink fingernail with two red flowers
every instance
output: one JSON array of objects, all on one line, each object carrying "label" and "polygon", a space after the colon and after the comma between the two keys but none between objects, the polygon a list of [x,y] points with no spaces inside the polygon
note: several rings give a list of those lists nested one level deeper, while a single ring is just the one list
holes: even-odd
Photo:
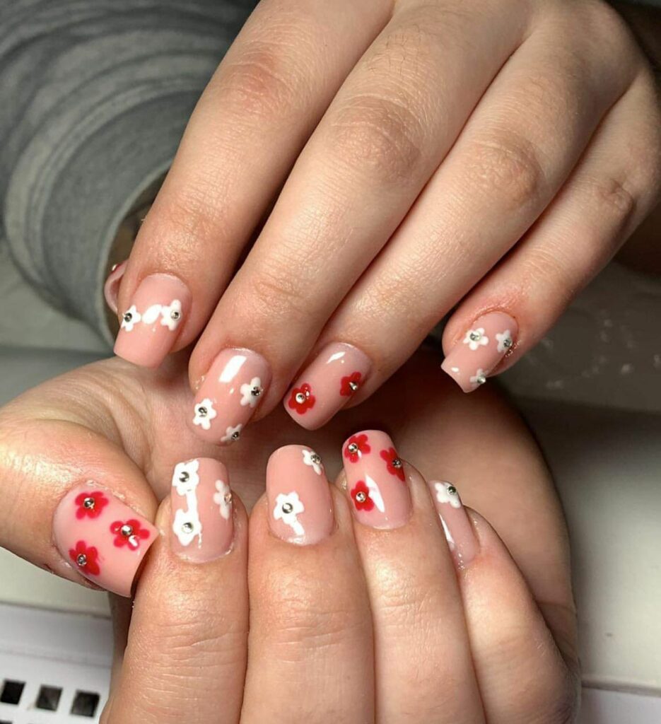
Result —
[{"label": "upper hand's pink fingernail with two red flowers", "polygon": [[321,427],[348,403],[365,382],[370,368],[364,352],[353,345],[332,342],[287,392],[285,410],[308,430]]}]

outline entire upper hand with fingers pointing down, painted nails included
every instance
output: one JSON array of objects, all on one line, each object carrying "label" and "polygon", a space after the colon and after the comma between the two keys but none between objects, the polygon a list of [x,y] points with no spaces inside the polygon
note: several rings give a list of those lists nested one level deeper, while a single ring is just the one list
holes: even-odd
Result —
[{"label": "entire upper hand with fingers pointing down, painted nails included", "polygon": [[473,390],[652,208],[660,129],[603,2],[264,0],[111,280],[117,353],[158,366],[201,334],[216,415],[185,418],[231,442],[283,395],[309,429],[362,402],[458,305],[444,369]]}]

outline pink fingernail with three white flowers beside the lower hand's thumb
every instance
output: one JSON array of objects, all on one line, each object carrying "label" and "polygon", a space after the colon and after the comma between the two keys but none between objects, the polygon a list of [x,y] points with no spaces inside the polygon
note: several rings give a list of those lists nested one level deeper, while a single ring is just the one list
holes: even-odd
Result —
[{"label": "pink fingernail with three white flowers beside the lower hand's thumb", "polygon": [[195,563],[214,560],[232,547],[234,506],[227,468],[213,458],[174,466],[172,550]]}]

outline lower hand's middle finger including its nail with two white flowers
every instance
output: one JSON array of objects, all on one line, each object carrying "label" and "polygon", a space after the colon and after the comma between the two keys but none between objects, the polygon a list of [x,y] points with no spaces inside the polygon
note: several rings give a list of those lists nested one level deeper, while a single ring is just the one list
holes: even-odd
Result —
[{"label": "lower hand's middle finger including its nail with two white flowers", "polygon": [[308,447],[269,459],[249,582],[242,724],[373,721],[371,617],[350,513]]}]

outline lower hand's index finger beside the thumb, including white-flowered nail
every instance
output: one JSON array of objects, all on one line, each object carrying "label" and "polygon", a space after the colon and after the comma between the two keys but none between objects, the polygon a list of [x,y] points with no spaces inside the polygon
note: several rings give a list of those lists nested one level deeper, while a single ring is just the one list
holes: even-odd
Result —
[{"label": "lower hand's index finger beside the thumb, including white-flowered nail", "polygon": [[157,521],[163,536],[138,582],[104,723],[237,723],[248,637],[248,525],[224,465],[210,458],[177,465]]}]

